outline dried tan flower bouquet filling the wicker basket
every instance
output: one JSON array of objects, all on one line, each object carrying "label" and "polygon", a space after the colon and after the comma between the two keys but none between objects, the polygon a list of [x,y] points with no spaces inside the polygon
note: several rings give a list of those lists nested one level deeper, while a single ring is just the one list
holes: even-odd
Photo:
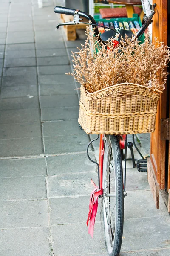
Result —
[{"label": "dried tan flower bouquet filling the wicker basket", "polygon": [[94,35],[94,29],[87,27],[87,39],[81,44],[79,52],[72,52],[74,71],[69,75],[83,85],[89,92],[110,87],[115,84],[133,83],[146,86],[153,91],[164,90],[167,80],[167,63],[170,50],[164,43],[155,39],[150,43],[149,35],[139,45],[136,38],[122,38],[118,46],[113,40],[103,44]]}]

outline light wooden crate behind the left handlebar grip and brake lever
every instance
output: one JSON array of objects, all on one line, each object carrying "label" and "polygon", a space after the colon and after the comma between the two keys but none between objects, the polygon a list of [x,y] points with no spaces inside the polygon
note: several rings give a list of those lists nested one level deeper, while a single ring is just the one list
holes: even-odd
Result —
[{"label": "light wooden crate behind the left handlebar grip and brake lever", "polygon": [[[73,16],[72,15],[66,15],[66,14],[60,14],[60,19],[62,20],[62,22],[69,22],[73,20]],[[84,20],[84,22],[88,22],[88,20]],[[64,30],[65,30],[65,34],[67,36],[67,40],[68,41],[74,41],[77,38],[77,33],[76,33],[76,29],[86,29],[86,24],[77,24],[77,25],[65,25],[64,26]]]}]

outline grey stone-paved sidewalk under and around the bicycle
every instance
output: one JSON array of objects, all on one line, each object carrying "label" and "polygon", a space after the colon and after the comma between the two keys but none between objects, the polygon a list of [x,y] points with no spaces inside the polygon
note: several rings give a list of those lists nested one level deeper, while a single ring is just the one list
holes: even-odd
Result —
[{"label": "grey stone-paved sidewalk under and around the bicycle", "polygon": [[[65,75],[84,39],[66,41],[57,22],[52,0],[42,9],[37,0],[0,0],[0,256],[107,255],[100,214],[93,239],[85,223],[97,173]],[[127,192],[120,255],[170,255],[164,202],[155,209],[147,174],[130,163]]]}]

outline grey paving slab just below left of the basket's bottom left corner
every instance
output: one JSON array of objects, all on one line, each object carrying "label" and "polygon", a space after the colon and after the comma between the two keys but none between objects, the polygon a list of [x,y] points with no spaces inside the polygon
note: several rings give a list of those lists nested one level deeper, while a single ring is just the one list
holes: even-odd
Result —
[{"label": "grey paving slab just below left of the basket's bottom left corner", "polygon": [[45,154],[63,154],[86,151],[89,143],[87,135],[45,137]]}]

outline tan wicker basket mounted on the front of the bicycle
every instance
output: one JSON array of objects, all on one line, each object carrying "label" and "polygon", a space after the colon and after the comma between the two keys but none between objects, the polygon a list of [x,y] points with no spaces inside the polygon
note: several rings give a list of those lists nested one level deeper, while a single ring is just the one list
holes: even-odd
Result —
[{"label": "tan wicker basket mounted on the front of the bicycle", "polygon": [[78,122],[87,134],[153,132],[160,93],[130,83],[94,93],[81,86]]}]

